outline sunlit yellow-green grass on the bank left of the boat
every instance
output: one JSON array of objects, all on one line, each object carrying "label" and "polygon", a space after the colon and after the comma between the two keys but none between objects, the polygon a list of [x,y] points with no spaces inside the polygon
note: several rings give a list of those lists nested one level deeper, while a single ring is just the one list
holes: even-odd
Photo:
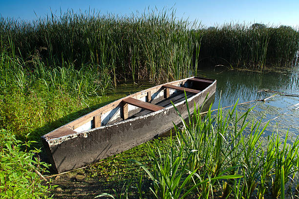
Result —
[{"label": "sunlit yellow-green grass on the bank left of the boat", "polygon": [[[11,43],[11,49],[14,48]],[[2,49],[0,54],[0,128],[11,130],[21,140],[39,140],[46,132],[73,118],[68,115],[101,102],[112,79],[107,69],[91,64],[75,69],[63,61],[50,67],[39,54],[25,61]],[[82,114],[82,113],[81,113]],[[77,117],[79,117],[77,115]],[[76,117],[73,115],[72,117]]]}]

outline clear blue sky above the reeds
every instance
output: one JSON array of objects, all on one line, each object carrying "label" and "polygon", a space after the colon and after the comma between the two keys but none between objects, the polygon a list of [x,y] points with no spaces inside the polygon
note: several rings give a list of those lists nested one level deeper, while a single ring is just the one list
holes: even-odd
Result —
[{"label": "clear blue sky above the reeds", "polygon": [[299,0],[0,0],[0,15],[34,20],[45,17],[50,9],[59,14],[60,9],[78,12],[88,8],[102,14],[129,15],[148,7],[174,7],[178,18],[189,17],[205,26],[225,22],[299,26]]}]

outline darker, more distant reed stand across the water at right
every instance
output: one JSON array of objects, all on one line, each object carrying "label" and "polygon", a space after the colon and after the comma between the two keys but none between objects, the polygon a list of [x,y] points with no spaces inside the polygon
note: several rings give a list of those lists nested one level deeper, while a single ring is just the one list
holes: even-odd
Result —
[{"label": "darker, more distant reed stand across the water at right", "polygon": [[201,35],[199,61],[203,63],[262,69],[298,61],[299,32],[289,26],[227,23],[195,32]]}]

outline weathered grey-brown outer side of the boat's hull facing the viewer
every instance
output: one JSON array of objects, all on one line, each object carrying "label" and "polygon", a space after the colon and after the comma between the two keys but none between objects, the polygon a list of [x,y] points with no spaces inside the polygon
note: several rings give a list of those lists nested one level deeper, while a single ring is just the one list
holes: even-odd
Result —
[{"label": "weathered grey-brown outer side of the boat's hull facing the viewer", "polygon": [[[190,107],[201,106],[208,96],[214,96],[216,81],[200,93],[188,99]],[[186,102],[175,104],[182,117],[188,116]],[[191,113],[193,108],[190,108]],[[71,135],[49,139],[42,137],[56,172],[79,168],[85,164],[121,153],[143,142],[157,137],[181,122],[172,106],[133,119],[126,119],[110,125],[74,132]]]}]

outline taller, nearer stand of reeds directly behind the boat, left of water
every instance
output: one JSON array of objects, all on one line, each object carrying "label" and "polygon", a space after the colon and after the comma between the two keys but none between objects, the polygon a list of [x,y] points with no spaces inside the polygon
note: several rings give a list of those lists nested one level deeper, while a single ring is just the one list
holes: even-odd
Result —
[{"label": "taller, nearer stand of reeds directly behind the boat, left of water", "polygon": [[171,11],[129,17],[69,11],[31,23],[2,18],[0,35],[2,45],[9,46],[11,40],[25,59],[38,51],[52,65],[62,60],[76,68],[82,63],[100,65],[112,71],[116,84],[118,78],[160,81],[188,76],[196,44],[188,31],[191,25],[176,20]]}]

